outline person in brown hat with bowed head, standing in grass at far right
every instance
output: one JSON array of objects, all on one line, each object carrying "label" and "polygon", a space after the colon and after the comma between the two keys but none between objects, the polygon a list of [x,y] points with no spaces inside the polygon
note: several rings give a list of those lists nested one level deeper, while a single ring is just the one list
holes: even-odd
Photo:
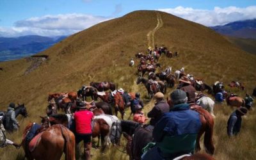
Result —
[{"label": "person in brown hat with bowed head, standing in grass at far right", "polygon": [[235,136],[240,132],[242,125],[242,116],[246,115],[248,109],[247,108],[237,108],[230,117],[227,122],[227,133],[229,137]]}]

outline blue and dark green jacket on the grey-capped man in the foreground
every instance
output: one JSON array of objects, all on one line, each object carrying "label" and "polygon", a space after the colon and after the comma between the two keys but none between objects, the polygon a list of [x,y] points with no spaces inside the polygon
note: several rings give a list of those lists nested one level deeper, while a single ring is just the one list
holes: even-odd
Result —
[{"label": "blue and dark green jacket on the grey-capped man in the foreground", "polygon": [[157,122],[153,138],[163,154],[188,154],[195,150],[201,125],[199,113],[189,109],[189,104],[175,105]]}]

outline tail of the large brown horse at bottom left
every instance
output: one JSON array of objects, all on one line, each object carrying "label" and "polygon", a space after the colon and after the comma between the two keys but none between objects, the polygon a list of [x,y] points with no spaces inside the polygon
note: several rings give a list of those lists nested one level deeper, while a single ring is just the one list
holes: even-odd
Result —
[{"label": "tail of the large brown horse at bottom left", "polygon": [[[68,132],[68,129],[64,125],[60,125],[61,134],[65,141],[64,143],[64,152],[65,160],[74,160],[76,159],[75,154],[75,136],[72,132]],[[70,134],[72,133],[72,134]]]}]

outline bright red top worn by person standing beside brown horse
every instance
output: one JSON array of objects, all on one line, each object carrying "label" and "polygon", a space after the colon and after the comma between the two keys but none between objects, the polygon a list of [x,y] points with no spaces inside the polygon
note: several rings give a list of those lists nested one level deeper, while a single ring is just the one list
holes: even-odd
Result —
[{"label": "bright red top worn by person standing beside brown horse", "polygon": [[91,111],[77,111],[74,115],[74,120],[76,122],[76,132],[79,134],[92,133],[92,118],[93,113]]}]

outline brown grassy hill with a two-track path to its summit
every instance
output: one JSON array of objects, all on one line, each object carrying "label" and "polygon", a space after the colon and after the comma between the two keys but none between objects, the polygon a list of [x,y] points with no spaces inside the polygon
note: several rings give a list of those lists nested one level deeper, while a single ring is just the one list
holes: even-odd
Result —
[{"label": "brown grassy hill with a two-track path to its summit", "polygon": [[[20,141],[21,131],[26,124],[29,121],[38,122],[39,116],[45,115],[47,93],[76,91],[90,81],[113,81],[129,92],[141,92],[147,102],[147,113],[154,103],[147,101],[144,86],[135,83],[136,67],[129,67],[129,60],[136,52],[145,52],[148,45],[156,44],[179,52],[177,58],[160,58],[162,70],[168,66],[172,66],[173,70],[185,67],[186,73],[203,77],[208,84],[215,81],[223,81],[225,84],[241,81],[246,86],[245,91],[232,90],[241,96],[246,92],[251,93],[255,87],[255,55],[241,51],[223,36],[200,24],[168,13],[137,11],[97,24],[40,52],[38,55],[47,55],[48,58],[29,74],[24,72],[35,65],[33,58],[1,62],[0,109],[6,109],[10,102],[24,102],[29,111],[29,118],[19,118],[20,131],[8,136]],[[172,90],[168,89],[166,97]],[[227,138],[226,124],[232,110],[226,105],[214,109],[214,157],[252,159],[256,145],[253,137],[256,133],[253,125],[256,120],[255,111],[251,111],[244,120],[242,133],[230,140]],[[128,115],[129,111],[125,119]],[[16,151],[12,147],[4,148],[0,153],[4,159],[21,159],[24,156],[22,150]],[[128,159],[127,155],[116,150],[110,150],[109,153],[101,156],[98,150],[93,150],[93,159]]]}]

